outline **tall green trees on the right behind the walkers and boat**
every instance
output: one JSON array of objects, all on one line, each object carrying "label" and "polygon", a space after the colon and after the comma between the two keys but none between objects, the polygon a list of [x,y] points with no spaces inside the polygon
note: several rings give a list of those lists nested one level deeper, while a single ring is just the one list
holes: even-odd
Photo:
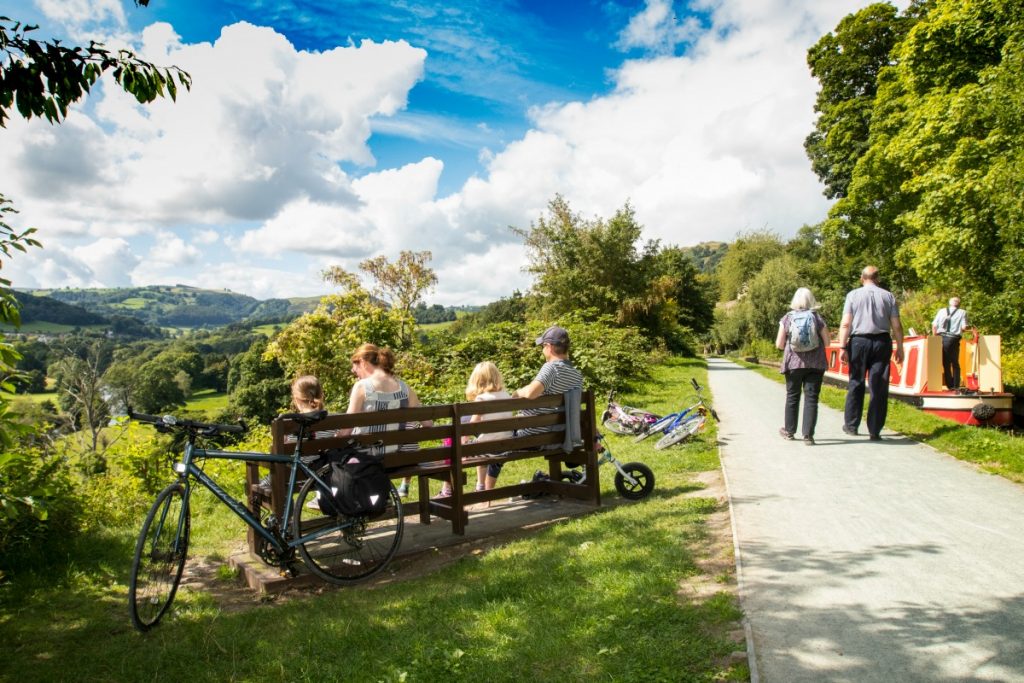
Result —
[{"label": "tall green trees on the right behind the walkers and boat", "polygon": [[871,4],[808,65],[820,90],[805,146],[837,201],[793,240],[761,231],[730,246],[714,343],[765,349],[798,285],[836,325],[873,263],[919,332],[959,296],[1002,336],[1004,379],[1024,386],[1024,5]]}]

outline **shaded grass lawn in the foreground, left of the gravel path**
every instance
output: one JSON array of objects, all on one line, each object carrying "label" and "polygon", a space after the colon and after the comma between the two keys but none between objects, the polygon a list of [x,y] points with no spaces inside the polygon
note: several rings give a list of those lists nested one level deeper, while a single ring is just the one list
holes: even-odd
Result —
[{"label": "shaded grass lawn in the foreground, left of the gravel path", "polygon": [[[700,361],[674,359],[641,394],[622,398],[667,412],[685,400],[689,377],[705,383],[705,375]],[[135,528],[84,537],[63,566],[0,587],[0,679],[745,680],[745,666],[729,656],[742,649],[731,573],[709,574],[705,562],[708,522],[721,508],[700,495],[694,473],[718,467],[714,427],[667,452],[614,436],[608,443],[624,462],[654,470],[650,499],[624,503],[605,466],[609,505],[426,575],[399,566],[372,587],[241,607],[187,591],[144,635],[131,629],[125,599]],[[517,465],[503,477],[532,473]],[[209,521],[194,535],[213,535],[224,514],[202,506],[196,516]],[[695,581],[721,590],[684,590]]]}]

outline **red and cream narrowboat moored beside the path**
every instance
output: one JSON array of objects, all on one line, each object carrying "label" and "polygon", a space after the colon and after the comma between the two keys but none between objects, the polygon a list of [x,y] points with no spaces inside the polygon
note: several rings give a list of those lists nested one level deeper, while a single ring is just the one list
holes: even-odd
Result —
[{"label": "red and cream narrowboat moored beside the path", "polygon": [[[903,362],[896,362],[896,343],[889,361],[889,395],[916,405],[926,413],[966,425],[1010,426],[1014,421],[1014,395],[1004,391],[1000,338],[979,335],[961,339],[959,365],[964,386],[942,384],[942,338],[935,335],[903,338]],[[842,360],[839,344],[826,349],[825,379],[846,385],[850,370]]]}]

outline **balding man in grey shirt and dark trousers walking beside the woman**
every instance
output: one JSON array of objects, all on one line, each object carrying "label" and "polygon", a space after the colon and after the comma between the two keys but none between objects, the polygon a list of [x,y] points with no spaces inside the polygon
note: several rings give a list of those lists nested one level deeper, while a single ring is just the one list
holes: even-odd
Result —
[{"label": "balding man in grey shirt and dark trousers walking beside the woman", "polygon": [[864,375],[867,375],[867,433],[882,440],[889,412],[889,358],[896,341],[896,362],[903,362],[903,323],[891,292],[879,287],[879,269],[864,266],[860,287],[846,295],[839,345],[850,369],[843,431],[855,435],[864,410]]}]

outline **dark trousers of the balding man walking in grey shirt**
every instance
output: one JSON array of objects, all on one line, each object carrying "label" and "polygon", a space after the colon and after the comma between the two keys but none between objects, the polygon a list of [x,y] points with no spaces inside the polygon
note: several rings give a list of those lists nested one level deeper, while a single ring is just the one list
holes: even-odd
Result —
[{"label": "dark trousers of the balding man walking in grey shirt", "polygon": [[860,426],[864,411],[864,375],[867,375],[867,433],[880,434],[889,413],[889,358],[893,354],[893,341],[889,335],[852,337],[847,349],[850,366],[850,384],[846,389],[844,421],[847,429]]}]

